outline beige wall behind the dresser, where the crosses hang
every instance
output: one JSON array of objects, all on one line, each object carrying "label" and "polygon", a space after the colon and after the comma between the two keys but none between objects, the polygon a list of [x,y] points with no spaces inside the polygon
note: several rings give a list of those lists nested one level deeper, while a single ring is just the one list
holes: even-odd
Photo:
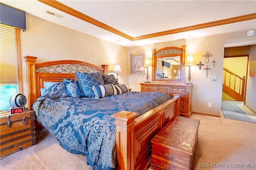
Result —
[{"label": "beige wall behind the dresser, where the crosses hang", "polygon": [[[168,46],[182,47],[181,45],[186,44],[186,53],[193,54],[194,62],[198,64],[201,61],[204,64],[204,66],[202,66],[202,70],[199,70],[199,66],[197,66],[196,64],[191,66],[191,82],[193,83],[192,111],[210,115],[220,115],[225,40],[246,37],[247,31],[248,30],[233,33],[225,33],[220,35],[211,35],[206,37],[181,39],[177,41],[169,41],[164,43],[156,43],[138,47],[130,47],[128,48],[127,59],[129,60],[130,53],[145,52],[146,57],[152,57],[152,48],[158,50]],[[203,55],[206,54],[207,51],[209,51],[209,53],[212,54],[212,57],[209,57],[210,62],[208,64],[205,63],[205,58],[203,57]],[[214,66],[213,63],[211,63],[213,60],[217,62],[214,64]],[[208,70],[208,78],[206,78],[206,70],[203,69],[206,68],[207,65],[208,68],[211,68],[211,70]],[[149,69],[149,76],[151,81],[152,68]],[[216,81],[212,81],[212,76],[216,76]],[[140,82],[144,82],[145,80],[145,74],[130,74],[128,75],[127,82],[130,84],[130,88],[136,91],[140,91]],[[185,67],[185,81],[188,82],[187,66]],[[250,85],[250,87],[248,87],[247,89],[250,89],[249,91],[251,91],[251,89],[254,88],[254,97],[252,95],[248,95],[246,96],[246,101],[250,100],[251,103],[254,103],[254,106],[251,107],[250,104],[250,107],[254,108],[255,111],[255,83],[252,82],[253,80],[251,80],[252,85]],[[212,107],[208,107],[208,103],[212,103]]]}]

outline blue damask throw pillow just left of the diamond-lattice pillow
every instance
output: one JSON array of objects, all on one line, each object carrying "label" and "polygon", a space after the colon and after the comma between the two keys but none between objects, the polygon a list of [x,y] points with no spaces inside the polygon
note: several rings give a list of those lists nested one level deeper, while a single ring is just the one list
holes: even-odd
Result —
[{"label": "blue damask throw pillow just left of the diamond-lattice pillow", "polygon": [[69,96],[73,98],[80,98],[84,96],[79,87],[78,80],[75,80],[75,79],[70,80],[70,79],[63,78],[62,82],[65,84],[66,91],[68,92]]}]

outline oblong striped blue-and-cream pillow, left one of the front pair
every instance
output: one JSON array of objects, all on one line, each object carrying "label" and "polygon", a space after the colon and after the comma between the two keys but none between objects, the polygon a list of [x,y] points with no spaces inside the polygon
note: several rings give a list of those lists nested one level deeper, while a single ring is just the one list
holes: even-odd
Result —
[{"label": "oblong striped blue-and-cream pillow, left one of the front pair", "polygon": [[92,89],[95,94],[95,98],[100,99],[111,95],[116,95],[117,91],[113,84],[105,84],[105,85],[95,85],[92,86]]}]

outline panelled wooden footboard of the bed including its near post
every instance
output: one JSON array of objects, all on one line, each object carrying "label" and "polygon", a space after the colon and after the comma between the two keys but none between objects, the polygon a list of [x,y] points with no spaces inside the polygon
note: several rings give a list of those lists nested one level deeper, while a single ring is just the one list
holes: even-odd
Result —
[{"label": "panelled wooden footboard of the bed including its near post", "polygon": [[151,139],[179,116],[179,96],[135,118],[138,113],[120,111],[116,120],[116,166],[118,170],[144,170],[151,161]]}]

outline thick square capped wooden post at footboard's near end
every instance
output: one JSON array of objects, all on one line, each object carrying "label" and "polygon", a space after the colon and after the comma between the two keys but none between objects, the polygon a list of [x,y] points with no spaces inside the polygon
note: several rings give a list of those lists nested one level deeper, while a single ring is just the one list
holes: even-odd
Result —
[{"label": "thick square capped wooden post at footboard's near end", "polygon": [[116,166],[118,170],[134,170],[134,119],[138,113],[120,111],[111,115],[116,121]]}]

